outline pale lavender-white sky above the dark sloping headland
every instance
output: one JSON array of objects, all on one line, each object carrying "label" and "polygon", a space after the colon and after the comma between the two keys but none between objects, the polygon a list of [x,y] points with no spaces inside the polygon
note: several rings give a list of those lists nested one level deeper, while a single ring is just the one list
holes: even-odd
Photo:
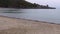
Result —
[{"label": "pale lavender-white sky above the dark sloping headland", "polygon": [[60,0],[26,0],[31,3],[37,3],[40,5],[49,5],[50,7],[60,8]]}]

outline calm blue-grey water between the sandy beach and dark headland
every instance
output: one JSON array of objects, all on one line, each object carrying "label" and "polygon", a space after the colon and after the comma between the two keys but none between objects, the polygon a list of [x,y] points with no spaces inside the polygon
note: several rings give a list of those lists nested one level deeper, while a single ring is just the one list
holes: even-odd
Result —
[{"label": "calm blue-grey water between the sandy beach and dark headland", "polygon": [[0,8],[0,15],[39,21],[60,23],[59,9],[11,9]]}]

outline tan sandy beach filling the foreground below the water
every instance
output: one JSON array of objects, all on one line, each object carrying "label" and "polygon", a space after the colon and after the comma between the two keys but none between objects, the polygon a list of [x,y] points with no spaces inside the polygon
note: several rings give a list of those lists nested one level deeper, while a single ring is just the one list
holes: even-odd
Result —
[{"label": "tan sandy beach filling the foreground below the water", "polygon": [[0,34],[60,34],[60,25],[0,16]]}]

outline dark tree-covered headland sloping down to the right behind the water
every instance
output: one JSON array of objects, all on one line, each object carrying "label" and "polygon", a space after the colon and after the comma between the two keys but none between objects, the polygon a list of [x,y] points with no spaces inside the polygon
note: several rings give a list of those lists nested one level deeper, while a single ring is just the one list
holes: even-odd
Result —
[{"label": "dark tree-covered headland sloping down to the right behind the water", "polygon": [[30,3],[25,0],[0,0],[0,7],[4,8],[40,8],[40,9],[55,9],[53,7]]}]

